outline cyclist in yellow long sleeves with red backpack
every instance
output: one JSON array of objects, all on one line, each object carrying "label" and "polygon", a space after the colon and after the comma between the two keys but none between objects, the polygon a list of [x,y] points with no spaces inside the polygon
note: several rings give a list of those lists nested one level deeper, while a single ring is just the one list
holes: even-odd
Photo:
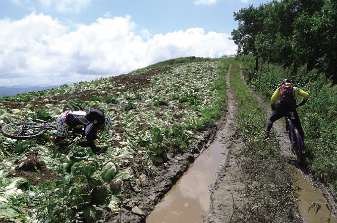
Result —
[{"label": "cyclist in yellow long sleeves with red backpack", "polygon": [[[303,97],[303,100],[300,104],[296,105],[296,98],[298,96]],[[282,118],[288,116],[289,112],[294,112],[295,120],[293,121],[294,126],[297,128],[303,142],[304,142],[304,131],[301,126],[301,122],[296,111],[298,106],[303,106],[309,99],[309,94],[303,91],[298,87],[291,85],[291,81],[284,79],[281,82],[281,86],[276,89],[271,99],[272,110],[274,111],[267,122],[266,132],[264,137],[269,137],[269,132],[273,127],[273,123]],[[277,106],[275,106],[276,100],[279,100]]]}]

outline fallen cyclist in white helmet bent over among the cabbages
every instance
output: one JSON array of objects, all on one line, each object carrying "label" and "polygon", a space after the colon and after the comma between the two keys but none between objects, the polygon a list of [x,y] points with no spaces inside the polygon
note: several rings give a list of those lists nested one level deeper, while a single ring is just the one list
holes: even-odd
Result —
[{"label": "fallen cyclist in white helmet bent over among the cabbages", "polygon": [[88,108],[87,111],[64,111],[56,119],[56,136],[42,135],[45,140],[50,140],[60,146],[67,143],[69,129],[83,126],[82,134],[86,136],[87,146],[95,153],[102,153],[103,149],[96,147],[97,131],[112,129],[110,116],[105,116],[103,111]]}]

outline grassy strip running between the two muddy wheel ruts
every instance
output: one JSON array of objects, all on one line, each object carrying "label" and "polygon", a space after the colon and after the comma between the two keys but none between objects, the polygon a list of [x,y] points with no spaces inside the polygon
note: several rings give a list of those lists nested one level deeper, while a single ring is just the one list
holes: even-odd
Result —
[{"label": "grassy strip running between the two muddy wheel ruts", "polygon": [[244,197],[234,201],[231,222],[300,222],[292,187],[293,170],[280,153],[277,138],[262,138],[267,117],[256,99],[242,85],[239,63],[231,60],[230,85],[237,97],[239,131],[244,141]]}]

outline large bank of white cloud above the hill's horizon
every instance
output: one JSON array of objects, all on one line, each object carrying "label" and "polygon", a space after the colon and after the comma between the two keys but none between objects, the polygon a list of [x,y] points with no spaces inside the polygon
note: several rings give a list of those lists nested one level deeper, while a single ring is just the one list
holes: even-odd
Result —
[{"label": "large bank of white cloud above the hill's horizon", "polygon": [[[0,83],[77,82],[119,75],[181,56],[234,54],[229,35],[191,28],[153,37],[135,34],[130,16],[99,18],[69,32],[51,16],[35,13],[0,20]],[[145,40],[145,41],[144,41]]]}]

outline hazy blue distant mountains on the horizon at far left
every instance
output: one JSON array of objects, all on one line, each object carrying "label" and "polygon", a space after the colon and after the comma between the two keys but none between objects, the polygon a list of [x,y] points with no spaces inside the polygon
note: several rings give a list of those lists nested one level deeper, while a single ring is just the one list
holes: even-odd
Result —
[{"label": "hazy blue distant mountains on the horizon at far left", "polygon": [[61,85],[62,84],[56,85],[56,86],[52,86],[49,84],[37,84],[36,86],[34,85],[12,85],[12,86],[3,85],[3,86],[0,86],[0,97],[3,97],[5,95],[12,96],[12,95],[16,95],[19,93],[27,93],[30,91],[42,91],[46,89],[56,88]]}]

